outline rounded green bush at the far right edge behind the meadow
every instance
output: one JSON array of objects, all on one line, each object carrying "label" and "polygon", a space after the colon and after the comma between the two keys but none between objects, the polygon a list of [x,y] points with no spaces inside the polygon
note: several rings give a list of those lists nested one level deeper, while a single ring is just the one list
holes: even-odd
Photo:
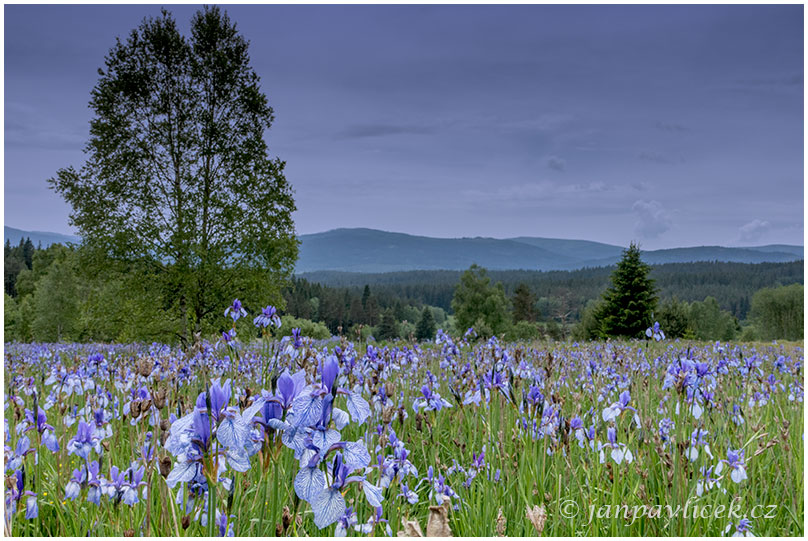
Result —
[{"label": "rounded green bush at the far right edge behind the meadow", "polygon": [[801,284],[761,289],[752,297],[752,319],[762,340],[802,340],[805,325]]}]

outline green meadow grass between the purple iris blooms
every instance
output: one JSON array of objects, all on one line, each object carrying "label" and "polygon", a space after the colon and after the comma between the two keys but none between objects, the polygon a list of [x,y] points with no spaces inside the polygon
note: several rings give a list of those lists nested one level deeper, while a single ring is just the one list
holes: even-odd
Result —
[{"label": "green meadow grass between the purple iris blooms", "polygon": [[[804,534],[802,344],[728,344],[722,351],[717,351],[712,344],[694,342],[458,345],[459,354],[451,356],[454,362],[441,368],[441,360],[446,355],[439,345],[402,343],[380,348],[376,354],[380,361],[376,362],[364,354],[365,344],[356,344],[355,360],[359,369],[348,376],[349,383],[357,381],[357,374],[364,372],[365,398],[373,403],[372,397],[378,396],[379,385],[385,384],[391,401],[388,407],[375,410],[363,425],[352,423],[342,431],[345,440],[364,439],[371,464],[376,463],[377,454],[391,454],[386,442],[394,431],[410,451],[409,460],[417,468],[419,478],[426,476],[429,466],[436,474],[446,474],[455,463],[468,470],[472,453],[479,454],[485,449],[485,466],[469,486],[464,486],[464,473],[447,475],[447,484],[458,495],[452,500],[454,508],[449,513],[449,526],[454,535],[496,535],[497,517],[501,514],[506,535],[535,536],[537,532],[526,518],[526,508],[533,506],[544,507],[547,521],[543,535],[551,536],[715,536],[723,535],[728,524],[733,523],[729,532],[732,533],[738,518],[716,513],[718,506],[739,510],[739,516],[751,521],[752,531],[758,536]],[[107,474],[112,466],[123,470],[132,461],[139,460],[147,432],[152,431],[156,440],[162,432],[159,422],[157,426],[150,426],[146,416],[141,416],[134,424],[129,417],[121,417],[137,389],[144,387],[152,395],[161,389],[167,392],[165,405],[150,410],[156,418],[165,420],[172,412],[190,411],[197,394],[204,390],[205,382],[222,375],[233,380],[231,405],[241,400],[243,408],[247,388],[256,396],[260,394],[262,381],[265,388],[269,386],[268,367],[297,362],[312,373],[318,349],[333,349],[333,346],[333,343],[310,344],[299,352],[297,361],[292,361],[277,345],[263,344],[245,348],[236,355],[231,351],[228,354],[232,360],[226,362],[227,350],[223,349],[212,349],[195,359],[175,350],[149,355],[148,348],[137,345],[7,344],[4,371],[6,465],[13,458],[13,450],[21,437],[16,427],[24,418],[24,408],[30,409],[33,405],[33,395],[26,394],[27,388],[36,389],[40,403],[52,396],[53,404],[47,409],[47,417],[54,426],[60,450],[52,453],[40,447],[38,464],[34,453],[24,457],[25,490],[38,494],[39,515],[26,520],[26,497],[23,496],[11,504],[16,512],[6,513],[6,533],[26,536],[218,534],[215,525],[203,526],[196,520],[201,511],[201,499],[196,500],[189,517],[183,518],[186,513],[175,503],[178,489],[169,489],[160,474],[157,460],[167,453],[159,447],[155,459],[146,464],[148,491],[141,489],[139,503],[129,506],[102,496],[101,504],[96,506],[85,501],[86,487],[77,499],[65,499],[71,473],[82,463],[77,456],[68,454],[67,444],[75,435],[77,424],[67,426],[65,414],[75,408],[80,416],[85,405],[98,408],[102,404],[99,393],[108,393],[111,405],[107,410],[113,412],[113,405],[118,404],[118,416],[111,421],[112,437],[104,441],[101,471]],[[343,352],[351,351],[345,341],[340,347]],[[107,376],[102,371],[93,377],[84,375],[83,384],[94,381],[94,389],[68,396],[58,392],[58,384],[44,384],[57,365],[66,372],[78,367],[86,370],[90,365],[87,358],[92,352],[104,354],[110,374]],[[503,357],[503,352],[507,358]],[[715,374],[711,405],[705,405],[698,419],[688,412],[680,389],[663,389],[668,366],[688,355],[695,361],[709,363]],[[740,367],[754,356],[760,362],[760,374],[756,371],[742,374]],[[775,367],[780,356],[786,358],[787,372]],[[147,375],[138,372],[138,363],[142,364],[144,359],[148,362],[143,366],[152,367],[145,372]],[[591,373],[590,361],[598,365]],[[722,362],[727,363],[726,374],[716,372]],[[466,363],[469,368],[464,371]],[[386,368],[377,369],[377,365]],[[398,369],[391,369],[391,365]],[[183,370],[187,375],[183,375]],[[453,387],[462,395],[476,385],[480,376],[492,370],[514,373],[510,384],[512,395],[495,390],[488,404],[483,401],[480,406],[463,405],[450,390]],[[453,407],[419,414],[413,411],[413,400],[420,396],[427,371],[436,380],[433,390]],[[780,380],[774,387],[766,381],[769,374]],[[29,378],[33,378],[33,382]],[[506,381],[508,379],[511,378]],[[523,392],[526,394],[537,381],[547,399],[545,407],[552,406],[561,416],[561,429],[548,430],[543,437],[531,433],[533,421],[540,426],[542,416],[525,410],[522,399]],[[582,448],[574,433],[563,427],[578,416],[585,427],[595,427],[597,442],[605,443],[610,424],[602,420],[601,412],[617,401],[623,388],[630,390],[630,405],[637,410],[640,425],[634,422],[633,412],[627,410],[614,426],[617,441],[632,451],[634,461],[617,464],[606,449],[605,462],[601,463],[597,443],[594,451],[588,445]],[[765,404],[749,404],[756,392],[768,395]],[[799,400],[789,400],[789,394],[794,392]],[[15,400],[23,405],[16,404]],[[403,406],[406,419],[399,413],[399,405]],[[733,421],[733,405],[740,405],[743,424]],[[661,440],[658,430],[659,421],[665,417],[675,422],[669,443]],[[558,422],[558,418],[553,422]],[[709,433],[706,439],[714,458],[711,459],[704,448],[700,449],[695,462],[686,457],[691,434],[696,429]],[[26,434],[31,446],[37,447],[37,431],[30,430]],[[720,486],[699,497],[696,484],[701,468],[715,467],[720,459],[726,459],[728,448],[744,449],[748,479],[734,483],[725,466]],[[235,534],[275,535],[277,529],[283,535],[333,535],[334,525],[319,530],[310,505],[295,495],[293,480],[298,464],[293,452],[278,442],[270,454],[262,452],[253,456],[247,472],[228,470],[226,476],[232,478],[233,490],[226,491],[219,483],[212,494],[216,507],[231,516]],[[498,481],[495,480],[497,470]],[[8,488],[11,474],[13,471],[7,469],[7,501],[11,494]],[[368,473],[371,482],[378,482],[380,477],[378,468]],[[410,488],[418,484],[414,477],[406,481]],[[384,490],[382,517],[389,521],[394,535],[401,528],[402,519],[425,526],[429,507],[436,504],[429,499],[430,487],[426,482],[418,487],[418,503],[410,504],[398,497],[400,482],[396,478]],[[365,501],[359,485],[349,487],[345,499],[347,505],[353,506],[361,524],[374,515],[374,510]],[[711,506],[710,512],[705,515],[703,510],[707,506]],[[694,507],[702,514],[694,516]],[[660,516],[649,517],[657,508]],[[284,509],[290,517],[285,526]],[[565,516],[573,509],[578,510],[575,516]],[[673,514],[676,509],[679,513]],[[690,510],[688,514],[685,509]],[[753,516],[756,509],[767,516]],[[353,529],[348,533],[358,535]],[[375,533],[383,535],[383,525],[378,525]]]}]

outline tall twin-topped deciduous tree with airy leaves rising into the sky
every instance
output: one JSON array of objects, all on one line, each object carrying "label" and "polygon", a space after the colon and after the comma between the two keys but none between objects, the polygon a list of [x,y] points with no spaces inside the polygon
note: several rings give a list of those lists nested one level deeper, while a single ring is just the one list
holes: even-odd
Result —
[{"label": "tall twin-topped deciduous tree with airy leaves rising into the sky", "polygon": [[295,204],[236,25],[206,7],[185,37],[163,10],[117,40],[99,75],[87,162],[50,180],[87,247],[151,267],[183,337],[233,296],[282,302]]}]

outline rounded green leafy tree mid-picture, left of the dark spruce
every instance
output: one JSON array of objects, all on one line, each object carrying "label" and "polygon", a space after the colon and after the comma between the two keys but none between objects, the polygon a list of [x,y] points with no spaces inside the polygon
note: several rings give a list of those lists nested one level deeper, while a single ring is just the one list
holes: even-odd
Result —
[{"label": "rounded green leafy tree mid-picture, left of the dark spruce", "polygon": [[508,330],[508,299],[501,283],[491,285],[487,271],[472,265],[460,277],[452,298],[455,324],[463,331],[474,327],[482,337],[502,335]]}]

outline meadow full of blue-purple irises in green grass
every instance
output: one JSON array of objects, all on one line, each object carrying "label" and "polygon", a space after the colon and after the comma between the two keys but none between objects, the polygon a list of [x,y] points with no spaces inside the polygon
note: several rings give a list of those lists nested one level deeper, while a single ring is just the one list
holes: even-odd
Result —
[{"label": "meadow full of blue-purple irises in green grass", "polygon": [[804,533],[801,344],[254,324],[186,351],[7,343],[5,534]]}]

